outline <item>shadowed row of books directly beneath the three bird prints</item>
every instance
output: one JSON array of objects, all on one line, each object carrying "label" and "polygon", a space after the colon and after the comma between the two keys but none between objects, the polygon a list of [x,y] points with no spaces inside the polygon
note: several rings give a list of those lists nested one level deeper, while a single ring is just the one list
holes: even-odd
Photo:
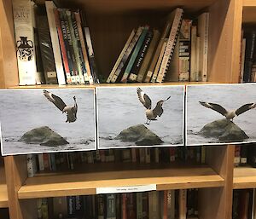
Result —
[{"label": "shadowed row of books directly beneath the three bird prints", "polygon": [[175,161],[204,164],[206,147],[166,147],[108,149],[80,153],[40,153],[27,155],[28,176],[42,171],[79,170],[81,164],[140,163],[168,164]]}]

